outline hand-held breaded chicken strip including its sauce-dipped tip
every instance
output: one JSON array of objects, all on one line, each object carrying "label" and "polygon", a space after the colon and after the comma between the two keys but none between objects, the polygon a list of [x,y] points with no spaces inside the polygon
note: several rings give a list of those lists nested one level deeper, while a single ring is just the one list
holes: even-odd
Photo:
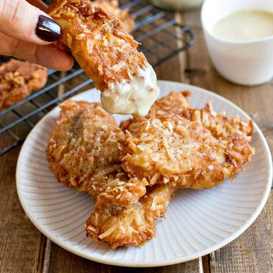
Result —
[{"label": "hand-held breaded chicken strip including its sauce-dipped tip", "polygon": [[89,0],[59,0],[49,14],[62,27],[61,45],[102,92],[105,109],[145,116],[159,96],[156,74],[122,23]]}]

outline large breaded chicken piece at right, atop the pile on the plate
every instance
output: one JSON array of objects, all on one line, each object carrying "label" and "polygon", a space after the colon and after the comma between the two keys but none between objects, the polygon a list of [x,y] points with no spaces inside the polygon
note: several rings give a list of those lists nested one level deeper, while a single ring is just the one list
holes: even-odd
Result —
[{"label": "large breaded chicken piece at right, atop the pile on the plate", "polygon": [[134,119],[127,132],[122,167],[151,185],[212,188],[234,177],[250,161],[252,123],[215,114],[211,105],[173,117]]}]

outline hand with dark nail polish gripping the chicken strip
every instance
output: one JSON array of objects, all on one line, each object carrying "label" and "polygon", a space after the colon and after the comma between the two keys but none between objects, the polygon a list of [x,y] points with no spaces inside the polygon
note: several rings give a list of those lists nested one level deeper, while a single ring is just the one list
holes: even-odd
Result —
[{"label": "hand with dark nail polish gripping the chicken strip", "polygon": [[69,70],[73,58],[52,44],[61,29],[46,9],[41,0],[0,0],[0,55]]}]

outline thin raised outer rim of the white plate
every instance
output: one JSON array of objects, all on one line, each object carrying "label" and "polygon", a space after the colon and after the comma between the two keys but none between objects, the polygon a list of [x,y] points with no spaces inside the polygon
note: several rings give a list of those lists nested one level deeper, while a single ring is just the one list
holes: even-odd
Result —
[{"label": "thin raised outer rim of the white plate", "polygon": [[[212,91],[206,90],[202,87],[198,87],[196,85],[188,85],[185,84],[183,82],[175,82],[175,81],[169,81],[169,80],[158,80],[159,83],[164,83],[164,84],[178,84],[181,85],[181,90],[183,89],[195,89],[198,90],[198,92],[203,92],[207,95],[212,95],[213,97],[218,97],[218,99],[223,100],[224,102],[228,103],[228,105],[234,107],[235,109],[237,109],[238,112],[240,112],[241,114],[244,114],[247,118],[251,119],[250,116],[240,107],[238,107],[237,105],[235,105],[234,102],[231,102],[230,100],[226,99],[225,97],[222,97],[221,95],[218,95]],[[95,88],[91,88],[90,90],[81,92],[80,94],[77,94],[73,97],[70,97],[70,99],[76,98],[78,95],[82,95],[85,92],[90,92],[92,90],[95,90]],[[63,102],[62,102],[63,103]],[[52,110],[50,110],[50,112],[48,112],[47,114],[45,114],[45,116],[35,125],[35,127],[33,127],[33,129],[31,130],[31,132],[28,133],[28,136],[26,137],[25,141],[23,142],[23,145],[21,147],[20,153],[18,155],[18,161],[16,164],[16,190],[17,190],[17,194],[18,194],[18,198],[20,200],[20,203],[23,207],[24,212],[26,213],[26,215],[28,216],[29,220],[31,220],[31,223],[33,223],[33,225],[35,225],[35,227],[41,232],[43,233],[43,235],[45,235],[46,237],[48,237],[50,240],[52,240],[53,242],[55,242],[56,245],[59,245],[60,247],[63,247],[65,250],[68,250],[69,252],[72,252],[75,255],[78,255],[80,257],[84,257],[85,259],[90,259],[94,262],[100,262],[102,264],[109,264],[109,265],[115,265],[115,266],[119,266],[119,267],[161,267],[161,266],[167,266],[167,265],[171,265],[171,264],[178,264],[181,262],[188,262],[191,261],[193,259],[197,259],[198,257],[202,257],[204,255],[208,255],[211,252],[214,252],[215,250],[220,249],[221,247],[224,247],[225,245],[228,245],[228,243],[232,242],[233,240],[235,240],[237,237],[239,237],[240,235],[242,235],[243,232],[245,232],[245,230],[247,230],[247,228],[250,228],[250,225],[252,225],[252,223],[254,223],[254,221],[257,219],[257,217],[259,216],[259,214],[262,212],[262,209],[264,208],[264,205],[267,203],[267,198],[269,196],[270,193],[270,189],[272,186],[272,155],[269,149],[269,146],[267,144],[267,140],[264,137],[264,134],[262,134],[261,129],[259,129],[259,127],[257,126],[256,122],[253,121],[253,125],[255,128],[255,131],[259,134],[259,137],[262,140],[262,144],[264,145],[264,149],[266,151],[266,155],[267,155],[267,168],[268,168],[268,177],[267,177],[267,185],[264,188],[264,193],[262,195],[261,200],[259,201],[259,204],[257,205],[257,208],[255,210],[255,212],[252,213],[252,215],[250,215],[250,217],[245,221],[245,223],[235,232],[233,232],[229,237],[226,237],[225,240],[218,242],[217,244],[213,245],[212,247],[208,247],[205,250],[202,250],[200,252],[195,252],[194,254],[191,255],[184,255],[183,257],[177,257],[175,259],[166,259],[162,262],[141,262],[141,264],[139,262],[112,262],[103,258],[95,258],[95,257],[90,257],[90,255],[85,255],[83,253],[81,253],[80,251],[77,251],[75,249],[73,249],[73,246],[67,245],[63,240],[58,239],[58,237],[55,237],[54,235],[51,235],[50,232],[48,232],[47,230],[45,230],[43,228],[43,225],[41,225],[40,223],[38,223],[38,221],[36,220],[36,218],[34,218],[34,216],[31,213],[31,210],[28,208],[28,205],[24,202],[24,198],[20,192],[20,177],[19,177],[19,171],[20,171],[20,166],[21,166],[21,161],[23,160],[23,151],[24,149],[26,149],[26,145],[28,143],[28,139],[30,139],[31,137],[31,133],[37,129],[37,127],[40,126],[40,124],[43,122],[44,119],[46,119],[48,117],[48,115],[50,113],[52,113],[53,111],[55,111],[55,109],[57,109],[58,107],[60,107],[60,105],[57,105],[56,107],[54,107]]]}]

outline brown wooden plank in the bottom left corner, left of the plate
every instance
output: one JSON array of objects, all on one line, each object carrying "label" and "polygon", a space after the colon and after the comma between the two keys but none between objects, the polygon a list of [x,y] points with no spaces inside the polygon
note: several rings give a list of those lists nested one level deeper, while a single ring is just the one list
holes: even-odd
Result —
[{"label": "brown wooden plank in the bottom left corner, left of the plate", "polygon": [[0,272],[41,272],[45,237],[26,217],[16,193],[19,150],[0,156]]}]

